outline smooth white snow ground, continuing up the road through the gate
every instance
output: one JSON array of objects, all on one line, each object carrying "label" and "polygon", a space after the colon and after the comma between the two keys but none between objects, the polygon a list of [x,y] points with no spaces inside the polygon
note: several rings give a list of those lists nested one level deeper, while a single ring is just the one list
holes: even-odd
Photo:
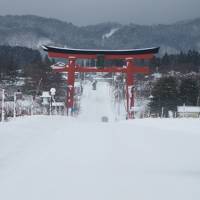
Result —
[{"label": "smooth white snow ground, continuing up the road through the gate", "polygon": [[200,199],[199,119],[115,122],[102,88],[78,118],[0,123],[0,200]]}]

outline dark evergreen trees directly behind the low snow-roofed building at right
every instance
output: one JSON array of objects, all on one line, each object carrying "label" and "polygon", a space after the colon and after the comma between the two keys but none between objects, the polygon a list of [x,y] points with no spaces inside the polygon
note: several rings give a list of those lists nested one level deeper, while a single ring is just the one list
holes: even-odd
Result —
[{"label": "dark evergreen trees directly behind the low snow-roofed building at right", "polygon": [[192,76],[160,78],[152,87],[149,103],[151,113],[168,117],[169,111],[177,111],[177,106],[199,106],[199,82],[199,77]]}]

